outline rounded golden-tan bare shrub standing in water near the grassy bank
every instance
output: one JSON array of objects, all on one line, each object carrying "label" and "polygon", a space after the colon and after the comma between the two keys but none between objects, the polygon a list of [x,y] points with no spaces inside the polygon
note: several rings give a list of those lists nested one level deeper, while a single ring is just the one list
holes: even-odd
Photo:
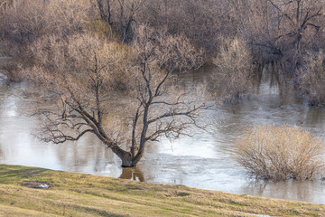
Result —
[{"label": "rounded golden-tan bare shrub standing in water near the grassy bank", "polygon": [[257,177],[305,180],[323,168],[323,151],[320,137],[300,127],[261,125],[238,139],[234,156]]}]

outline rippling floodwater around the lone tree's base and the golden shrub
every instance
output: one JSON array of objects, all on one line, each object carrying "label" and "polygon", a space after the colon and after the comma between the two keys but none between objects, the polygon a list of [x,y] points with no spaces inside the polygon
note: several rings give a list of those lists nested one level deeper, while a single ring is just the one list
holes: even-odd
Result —
[{"label": "rippling floodwater around the lone tree's base and the golden shrub", "polygon": [[[272,71],[272,69],[268,69]],[[184,78],[184,85],[203,82],[213,87],[213,69],[204,69]],[[136,168],[122,169],[120,160],[96,137],[78,143],[44,144],[32,137],[41,119],[24,112],[36,106],[28,99],[23,84],[0,86],[0,163],[31,165],[94,175],[107,175],[158,184],[185,184],[191,187],[246,193],[258,196],[325,203],[325,183],[256,182],[231,158],[237,137],[255,123],[298,125],[325,137],[325,109],[308,108],[294,97],[293,84],[265,70],[255,80],[253,94],[239,104],[219,105],[206,118],[213,122],[209,132],[175,141],[162,140],[146,149]]]}]

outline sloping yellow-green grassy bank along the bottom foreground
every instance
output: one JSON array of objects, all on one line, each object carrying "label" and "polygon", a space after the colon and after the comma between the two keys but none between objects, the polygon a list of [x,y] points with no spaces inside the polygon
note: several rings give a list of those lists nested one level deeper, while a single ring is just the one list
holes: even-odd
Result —
[{"label": "sloping yellow-green grassy bank along the bottom foreground", "polygon": [[[49,187],[34,188],[41,184]],[[0,216],[254,216],[252,213],[325,216],[325,205],[0,165]]]}]

